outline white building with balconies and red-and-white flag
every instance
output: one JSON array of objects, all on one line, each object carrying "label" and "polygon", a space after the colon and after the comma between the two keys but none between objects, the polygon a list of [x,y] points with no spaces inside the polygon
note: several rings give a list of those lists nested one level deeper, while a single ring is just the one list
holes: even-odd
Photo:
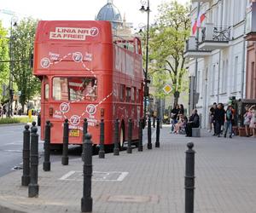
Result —
[{"label": "white building with balconies and red-and-white flag", "polygon": [[213,102],[226,105],[230,96],[245,97],[248,3],[249,0],[192,0],[192,25],[197,17],[202,21],[197,22],[197,31],[193,34],[192,30],[186,43],[189,106],[201,113],[204,128]]}]

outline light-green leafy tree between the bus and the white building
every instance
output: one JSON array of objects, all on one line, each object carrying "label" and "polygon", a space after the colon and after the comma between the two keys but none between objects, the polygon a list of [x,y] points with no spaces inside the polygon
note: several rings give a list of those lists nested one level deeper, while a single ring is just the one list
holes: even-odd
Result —
[{"label": "light-green leafy tree between the bus and the white building", "polygon": [[[150,69],[152,76],[167,72],[172,81],[174,105],[178,102],[179,93],[185,90],[186,73],[184,43],[189,37],[190,20],[189,7],[172,0],[171,3],[162,3],[159,14],[150,33],[150,60],[154,60]],[[161,85],[162,87],[163,85]]]}]

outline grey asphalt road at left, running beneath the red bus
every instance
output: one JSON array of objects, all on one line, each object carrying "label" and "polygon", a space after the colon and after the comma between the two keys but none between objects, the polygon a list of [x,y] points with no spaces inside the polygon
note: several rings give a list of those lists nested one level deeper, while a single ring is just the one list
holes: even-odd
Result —
[{"label": "grey asphalt road at left, running beneath the red bus", "polygon": [[[0,125],[0,176],[22,168],[24,125]],[[40,127],[38,127],[40,135]],[[39,164],[44,161],[44,141],[38,141]],[[71,146],[69,158],[80,158],[81,147]],[[51,151],[50,161],[61,161],[61,151]]]}]

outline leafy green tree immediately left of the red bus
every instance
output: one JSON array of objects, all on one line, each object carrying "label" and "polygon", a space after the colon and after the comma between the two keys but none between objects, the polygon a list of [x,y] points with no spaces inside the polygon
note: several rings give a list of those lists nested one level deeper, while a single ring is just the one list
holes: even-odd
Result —
[{"label": "leafy green tree immediately left of the red bus", "polygon": [[12,32],[12,54],[14,60],[13,77],[14,82],[21,91],[20,103],[22,109],[33,95],[40,91],[40,81],[32,75],[31,55],[35,31],[38,21],[26,18],[13,27]]}]

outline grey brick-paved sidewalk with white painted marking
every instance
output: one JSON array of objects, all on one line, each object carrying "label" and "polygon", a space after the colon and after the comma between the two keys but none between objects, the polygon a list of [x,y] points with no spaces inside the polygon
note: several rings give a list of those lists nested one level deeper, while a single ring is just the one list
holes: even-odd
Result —
[{"label": "grey brick-paved sidewalk with white painted marking", "polygon": [[[195,143],[195,212],[256,213],[256,139],[217,138],[202,130],[201,138],[160,131],[160,148],[105,159],[93,157],[93,212],[184,212],[184,166],[188,141]],[[155,134],[153,134],[153,145]],[[80,212],[82,162],[71,160],[39,166],[39,197],[27,198],[21,171],[0,178],[0,212]],[[4,209],[4,207],[6,207]],[[8,210],[9,209],[9,210]]]}]

